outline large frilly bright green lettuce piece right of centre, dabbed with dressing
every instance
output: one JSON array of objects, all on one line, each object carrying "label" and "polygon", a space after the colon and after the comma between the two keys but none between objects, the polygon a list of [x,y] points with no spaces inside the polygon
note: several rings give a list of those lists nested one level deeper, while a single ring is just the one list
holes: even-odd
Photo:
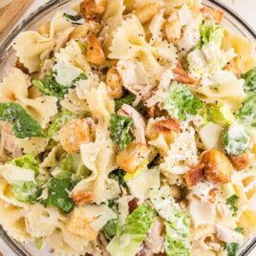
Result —
[{"label": "large frilly bright green lettuce piece right of centre, dabbed with dressing", "polygon": [[188,115],[197,115],[203,107],[203,102],[185,85],[174,82],[168,96],[163,101],[163,108],[172,117],[184,120]]}]

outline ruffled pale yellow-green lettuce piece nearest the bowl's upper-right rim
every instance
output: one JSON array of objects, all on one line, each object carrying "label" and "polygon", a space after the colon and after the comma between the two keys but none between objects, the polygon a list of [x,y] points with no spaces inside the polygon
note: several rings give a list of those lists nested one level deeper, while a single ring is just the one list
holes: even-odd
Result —
[{"label": "ruffled pale yellow-green lettuce piece nearest the bowl's upper-right rim", "polygon": [[224,28],[221,25],[215,24],[213,20],[206,20],[201,26],[200,33],[200,48],[210,42],[215,42],[219,47],[221,47],[224,36]]}]

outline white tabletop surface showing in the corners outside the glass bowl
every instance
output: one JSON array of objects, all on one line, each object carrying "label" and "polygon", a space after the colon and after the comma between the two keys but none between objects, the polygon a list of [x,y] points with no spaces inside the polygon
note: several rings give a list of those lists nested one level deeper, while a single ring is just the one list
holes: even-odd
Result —
[{"label": "white tabletop surface showing in the corners outside the glass bowl", "polygon": [[[26,12],[28,15],[30,12],[36,10],[39,6],[47,3],[49,0],[35,0],[32,7]],[[1,0],[0,0],[1,2]],[[245,21],[256,31],[256,0],[223,0],[224,4],[229,6],[232,10],[240,14]],[[4,256],[15,256],[9,248],[0,241],[0,251]],[[256,248],[249,254],[249,256],[256,255]],[[200,256],[200,255],[199,255]]]}]

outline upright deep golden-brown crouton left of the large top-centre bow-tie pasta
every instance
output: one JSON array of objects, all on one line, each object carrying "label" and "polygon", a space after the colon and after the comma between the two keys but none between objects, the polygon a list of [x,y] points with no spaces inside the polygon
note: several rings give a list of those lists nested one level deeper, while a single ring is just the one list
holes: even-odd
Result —
[{"label": "upright deep golden-brown crouton left of the large top-centre bow-tie pasta", "polygon": [[88,61],[95,65],[102,65],[105,62],[105,54],[96,35],[90,34],[87,41]]}]

